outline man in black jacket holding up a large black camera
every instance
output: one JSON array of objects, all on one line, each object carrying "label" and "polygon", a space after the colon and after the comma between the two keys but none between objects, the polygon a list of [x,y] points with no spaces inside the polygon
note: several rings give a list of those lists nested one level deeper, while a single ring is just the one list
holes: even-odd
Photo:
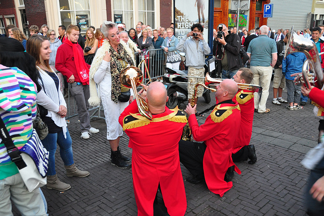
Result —
[{"label": "man in black jacket holding up a large black camera", "polygon": [[217,37],[214,40],[213,54],[217,60],[217,72],[222,79],[231,79],[243,64],[240,61],[240,38],[236,33],[228,33],[226,25],[217,26]]}]

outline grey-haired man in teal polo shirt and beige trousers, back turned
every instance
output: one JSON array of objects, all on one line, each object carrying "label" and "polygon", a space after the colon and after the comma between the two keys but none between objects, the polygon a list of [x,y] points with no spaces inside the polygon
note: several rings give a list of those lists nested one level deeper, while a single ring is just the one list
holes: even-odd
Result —
[{"label": "grey-haired man in teal polo shirt and beige trousers, back turned", "polygon": [[272,67],[277,61],[277,47],[275,41],[268,37],[268,32],[268,26],[262,25],[259,37],[251,41],[247,51],[250,57],[250,68],[254,75],[251,84],[262,86],[260,101],[259,94],[254,93],[254,109],[258,113],[270,112],[265,104],[269,96]]}]

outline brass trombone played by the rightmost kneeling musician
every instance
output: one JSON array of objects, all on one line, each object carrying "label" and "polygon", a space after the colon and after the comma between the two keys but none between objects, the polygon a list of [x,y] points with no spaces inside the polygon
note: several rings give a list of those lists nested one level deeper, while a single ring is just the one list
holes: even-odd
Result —
[{"label": "brass trombone played by the rightmost kneeling musician", "polygon": [[[173,82],[173,79],[176,77],[191,77],[191,76],[171,75],[169,78],[170,82]],[[205,79],[206,86],[218,86],[224,80],[224,79],[211,78],[211,76],[209,75],[208,72],[206,73],[205,77],[193,77],[193,78]],[[177,83],[186,83],[186,82],[177,82]],[[187,83],[187,84],[191,84],[191,83]],[[212,84],[216,84],[216,85],[212,85]],[[237,83],[237,87],[239,90],[250,90],[250,91],[257,92],[257,93],[262,92],[262,87],[258,86],[258,85]],[[205,88],[207,88],[207,87],[205,87]],[[207,89],[212,89],[212,88],[207,88]]]}]

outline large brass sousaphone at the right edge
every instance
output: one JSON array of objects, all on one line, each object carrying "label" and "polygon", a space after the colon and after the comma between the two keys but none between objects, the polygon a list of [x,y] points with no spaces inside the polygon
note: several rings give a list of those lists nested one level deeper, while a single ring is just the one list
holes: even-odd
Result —
[{"label": "large brass sousaphone at the right edge", "polygon": [[299,82],[303,83],[306,88],[310,89],[310,87],[317,81],[317,85],[321,89],[324,82],[324,76],[319,55],[324,54],[324,52],[318,53],[315,43],[309,39],[299,37],[298,34],[293,31],[293,28],[294,26],[292,27],[292,34],[287,42],[285,58],[294,52],[304,53],[307,60],[304,62],[302,74],[299,75]]}]

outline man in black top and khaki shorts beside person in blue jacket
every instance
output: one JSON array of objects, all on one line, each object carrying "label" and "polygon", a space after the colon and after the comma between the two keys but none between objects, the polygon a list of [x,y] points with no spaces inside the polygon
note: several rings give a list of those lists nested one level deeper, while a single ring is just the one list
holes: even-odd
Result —
[{"label": "man in black top and khaki shorts beside person in blue jacket", "polygon": [[[273,100],[272,103],[280,105],[281,103],[287,103],[287,100],[282,98],[282,89],[286,87],[286,78],[282,75],[282,61],[285,57],[285,50],[290,33],[286,34],[284,40],[280,40],[276,43],[277,45],[277,62],[274,65],[274,76],[273,76]],[[278,93],[278,98],[277,98]],[[281,103],[280,103],[281,102]]]}]

